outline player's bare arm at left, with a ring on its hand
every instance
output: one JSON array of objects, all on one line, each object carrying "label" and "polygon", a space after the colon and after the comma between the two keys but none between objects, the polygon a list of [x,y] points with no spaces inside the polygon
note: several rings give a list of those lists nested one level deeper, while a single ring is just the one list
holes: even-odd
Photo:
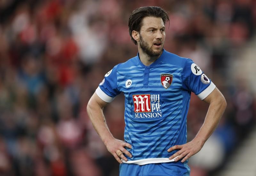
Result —
[{"label": "player's bare arm at left, with a ring on its hand", "polygon": [[132,157],[131,153],[126,150],[124,147],[132,148],[132,145],[124,141],[115,139],[110,133],[106,119],[103,114],[103,108],[108,103],[100,99],[100,97],[94,93],[87,105],[87,113],[92,125],[96,132],[99,134],[101,140],[104,142],[108,151],[116,158],[119,163],[122,163],[121,158],[125,161],[128,161],[124,156],[125,153],[127,156]]}]

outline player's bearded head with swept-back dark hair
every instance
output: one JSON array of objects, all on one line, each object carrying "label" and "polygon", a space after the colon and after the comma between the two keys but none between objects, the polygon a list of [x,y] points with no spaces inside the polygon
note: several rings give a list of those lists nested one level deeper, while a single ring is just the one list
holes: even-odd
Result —
[{"label": "player's bearded head with swept-back dark hair", "polygon": [[132,42],[148,56],[162,52],[165,40],[165,23],[169,21],[166,11],[160,7],[146,6],[132,11],[128,26]]}]

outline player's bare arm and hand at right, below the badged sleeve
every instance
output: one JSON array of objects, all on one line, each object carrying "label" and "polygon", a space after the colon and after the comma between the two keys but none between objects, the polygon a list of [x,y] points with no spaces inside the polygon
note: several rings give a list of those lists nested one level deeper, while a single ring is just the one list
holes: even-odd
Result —
[{"label": "player's bare arm and hand at right, below the badged sleeve", "polygon": [[223,115],[227,102],[224,96],[221,94],[218,88],[215,88],[210,95],[208,95],[204,100],[204,102],[209,103],[208,112],[204,119],[204,124],[200,128],[199,132],[196,134],[196,137],[183,145],[175,145],[169,148],[167,151],[171,152],[172,150],[179,149],[176,153],[174,153],[169,159],[173,159],[177,156],[175,161],[179,161],[181,158],[181,162],[183,163],[189,157],[195,155],[199,152],[207,139],[211,136],[215,128],[218,126],[218,123]]}]

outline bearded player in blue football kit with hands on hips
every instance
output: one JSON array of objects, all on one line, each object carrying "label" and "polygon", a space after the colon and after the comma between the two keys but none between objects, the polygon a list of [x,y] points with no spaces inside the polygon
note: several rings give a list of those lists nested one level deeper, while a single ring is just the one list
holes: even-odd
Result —
[{"label": "bearded player in blue football kit with hands on hips", "polygon": [[[120,163],[120,176],[189,175],[188,158],[210,137],[226,108],[220,91],[190,59],[164,50],[166,11],[132,11],[129,33],[139,53],[106,73],[88,102],[87,112],[108,151]],[[210,104],[203,126],[187,143],[190,93]],[[103,108],[125,96],[124,141],[115,139]]]}]

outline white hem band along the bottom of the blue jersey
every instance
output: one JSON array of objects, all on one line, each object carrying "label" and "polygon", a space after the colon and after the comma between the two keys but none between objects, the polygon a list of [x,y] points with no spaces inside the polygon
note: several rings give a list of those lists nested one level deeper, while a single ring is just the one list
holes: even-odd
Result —
[{"label": "white hem band along the bottom of the blue jersey", "polygon": [[[179,157],[179,156],[177,156],[177,157]],[[175,157],[175,158],[177,158],[177,157]],[[124,161],[123,159],[121,159],[121,161],[125,164],[147,165],[147,164],[155,164],[155,163],[174,162],[175,158],[173,158],[171,160],[169,158],[147,158],[147,159],[138,159],[138,160],[133,160],[133,161]]]}]

